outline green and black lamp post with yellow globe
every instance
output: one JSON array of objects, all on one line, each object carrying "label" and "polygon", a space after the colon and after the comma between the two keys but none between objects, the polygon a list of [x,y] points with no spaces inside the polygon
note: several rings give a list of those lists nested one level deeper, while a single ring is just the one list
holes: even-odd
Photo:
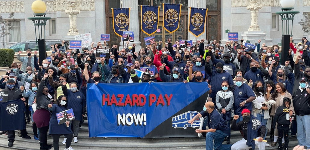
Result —
[{"label": "green and black lamp post with yellow globe", "polygon": [[45,25],[47,20],[51,19],[51,17],[45,17],[46,4],[41,0],[34,1],[31,5],[31,9],[34,14],[33,17],[29,17],[28,19],[32,20],[34,25],[36,41],[38,44],[37,46],[35,46],[35,50],[39,51],[39,64],[42,65],[42,61],[46,59],[47,49],[47,47],[45,46]]}]

